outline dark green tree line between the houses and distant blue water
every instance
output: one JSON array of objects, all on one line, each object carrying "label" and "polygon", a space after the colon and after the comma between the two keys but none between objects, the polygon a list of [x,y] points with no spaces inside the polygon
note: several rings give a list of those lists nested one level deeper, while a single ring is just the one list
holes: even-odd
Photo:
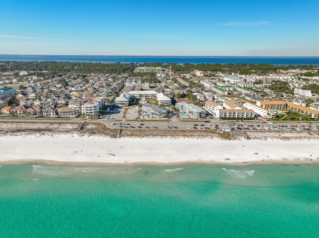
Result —
[{"label": "dark green tree line between the houses and distant blue water", "polygon": [[[91,63],[91,62],[56,62],[56,61],[32,61],[32,62],[14,62],[14,61],[1,61],[0,72],[9,71],[34,71],[40,72],[48,71],[51,74],[68,74],[68,73],[98,73],[98,74],[132,74],[137,67],[162,67],[171,69],[177,73],[189,73],[193,70],[200,70],[205,72],[220,72],[220,73],[238,73],[243,75],[250,74],[266,74],[276,72],[279,70],[289,69],[301,69],[301,70],[316,70],[318,66],[313,65],[288,65],[288,66],[277,66],[271,64],[248,64],[248,63],[236,63],[236,64],[190,64],[185,63],[179,65],[176,63],[163,64],[163,63],[129,63],[124,64],[120,62],[116,63]],[[144,74],[144,73],[142,73]],[[314,74],[312,74],[314,75]],[[316,74],[317,75],[317,74]]]}]

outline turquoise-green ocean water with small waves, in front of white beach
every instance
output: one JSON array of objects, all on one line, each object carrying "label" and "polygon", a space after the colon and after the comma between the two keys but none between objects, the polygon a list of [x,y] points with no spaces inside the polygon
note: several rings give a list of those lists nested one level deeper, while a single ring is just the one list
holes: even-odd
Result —
[{"label": "turquoise-green ocean water with small waves, in front of white beach", "polygon": [[0,166],[0,237],[318,237],[319,164]]}]

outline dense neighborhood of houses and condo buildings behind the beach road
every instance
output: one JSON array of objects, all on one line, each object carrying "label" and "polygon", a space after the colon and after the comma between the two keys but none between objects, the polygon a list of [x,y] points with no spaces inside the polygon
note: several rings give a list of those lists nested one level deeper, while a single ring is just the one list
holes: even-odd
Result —
[{"label": "dense neighborhood of houses and condo buildings behind the beach road", "polygon": [[[276,118],[287,111],[318,119],[318,95],[307,88],[319,77],[298,77],[298,70],[267,75],[224,75],[193,71],[174,74],[160,67],[139,67],[128,74],[74,74],[43,79],[19,72],[19,79],[3,73],[0,78],[1,116],[98,116],[106,105],[140,105],[155,118],[174,111],[179,119]],[[157,82],[143,74],[153,72]],[[142,76],[141,76],[142,74]],[[288,82],[291,93],[270,89],[273,82]],[[12,85],[14,84],[14,86]],[[311,98],[311,102],[309,102]]]}]

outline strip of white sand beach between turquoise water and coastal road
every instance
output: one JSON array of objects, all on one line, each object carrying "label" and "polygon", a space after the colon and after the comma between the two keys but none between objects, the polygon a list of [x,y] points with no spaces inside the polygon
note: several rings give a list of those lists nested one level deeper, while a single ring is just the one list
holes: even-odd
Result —
[{"label": "strip of white sand beach between turquoise water and coastal road", "polygon": [[0,163],[290,163],[319,161],[318,140],[221,140],[57,135],[0,138]]}]

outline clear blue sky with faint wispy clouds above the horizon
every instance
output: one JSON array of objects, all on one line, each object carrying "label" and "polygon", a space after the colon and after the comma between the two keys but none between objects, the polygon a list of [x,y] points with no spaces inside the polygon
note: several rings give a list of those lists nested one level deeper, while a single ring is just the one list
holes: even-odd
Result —
[{"label": "clear blue sky with faint wispy clouds above the horizon", "polygon": [[0,0],[0,54],[319,56],[319,0]]}]

